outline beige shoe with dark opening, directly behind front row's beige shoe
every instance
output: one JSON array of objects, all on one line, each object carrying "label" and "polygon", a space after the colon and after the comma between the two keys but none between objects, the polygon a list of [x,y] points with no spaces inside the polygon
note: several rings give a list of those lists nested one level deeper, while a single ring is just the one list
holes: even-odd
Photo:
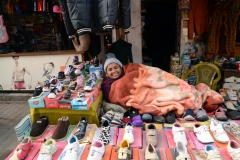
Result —
[{"label": "beige shoe with dark opening, directly behind front row's beige shoe", "polygon": [[152,144],[154,147],[157,146],[157,129],[154,124],[149,124],[146,131],[146,143]]}]

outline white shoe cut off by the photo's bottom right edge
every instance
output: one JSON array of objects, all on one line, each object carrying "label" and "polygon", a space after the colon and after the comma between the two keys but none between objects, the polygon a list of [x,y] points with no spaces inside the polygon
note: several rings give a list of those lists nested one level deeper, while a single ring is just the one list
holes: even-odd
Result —
[{"label": "white shoe cut off by the photo's bottom right edge", "polygon": [[234,140],[230,140],[227,145],[227,151],[233,160],[240,159],[240,144]]}]

